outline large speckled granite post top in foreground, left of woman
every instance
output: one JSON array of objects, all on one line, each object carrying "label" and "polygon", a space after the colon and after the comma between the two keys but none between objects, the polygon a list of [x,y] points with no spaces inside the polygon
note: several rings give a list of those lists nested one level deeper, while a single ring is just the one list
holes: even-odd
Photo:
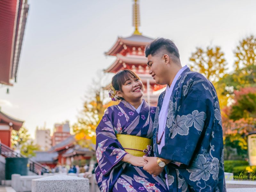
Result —
[{"label": "large speckled granite post top in foreground, left of woman", "polygon": [[89,180],[68,175],[54,175],[32,180],[31,189],[31,192],[89,192]]}]

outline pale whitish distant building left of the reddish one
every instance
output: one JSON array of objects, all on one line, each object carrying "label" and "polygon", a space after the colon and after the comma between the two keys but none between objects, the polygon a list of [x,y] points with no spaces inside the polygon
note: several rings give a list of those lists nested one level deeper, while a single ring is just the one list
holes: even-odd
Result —
[{"label": "pale whitish distant building left of the reddish one", "polygon": [[38,144],[43,151],[52,147],[52,138],[50,136],[50,129],[36,128],[36,144]]}]

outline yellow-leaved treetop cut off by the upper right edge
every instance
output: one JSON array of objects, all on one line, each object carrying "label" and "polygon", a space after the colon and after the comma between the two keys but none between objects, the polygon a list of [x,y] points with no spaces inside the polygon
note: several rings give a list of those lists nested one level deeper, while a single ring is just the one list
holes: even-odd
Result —
[{"label": "yellow-leaved treetop cut off by the upper right edge", "polygon": [[239,45],[234,50],[236,70],[242,69],[244,74],[250,71],[244,70],[246,67],[256,65],[256,37],[253,35],[239,41]]}]

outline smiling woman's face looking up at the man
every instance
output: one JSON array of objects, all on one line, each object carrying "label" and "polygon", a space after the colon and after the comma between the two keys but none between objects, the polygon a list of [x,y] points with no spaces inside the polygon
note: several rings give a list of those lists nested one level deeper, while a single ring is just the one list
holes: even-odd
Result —
[{"label": "smiling woman's face looking up at the man", "polygon": [[137,77],[129,77],[122,86],[122,92],[117,91],[119,97],[123,97],[127,102],[136,102],[143,96],[144,87]]}]

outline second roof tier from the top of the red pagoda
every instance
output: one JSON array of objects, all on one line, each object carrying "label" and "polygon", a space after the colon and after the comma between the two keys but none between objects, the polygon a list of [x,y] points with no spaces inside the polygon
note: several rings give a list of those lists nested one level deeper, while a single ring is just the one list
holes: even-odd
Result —
[{"label": "second roof tier from the top of the red pagoda", "polygon": [[116,55],[116,60],[115,62],[106,70],[105,72],[108,73],[115,73],[115,69],[118,68],[118,66],[122,63],[131,63],[131,64],[145,64],[147,65],[147,58],[142,56],[142,57],[126,57],[120,54]]}]

